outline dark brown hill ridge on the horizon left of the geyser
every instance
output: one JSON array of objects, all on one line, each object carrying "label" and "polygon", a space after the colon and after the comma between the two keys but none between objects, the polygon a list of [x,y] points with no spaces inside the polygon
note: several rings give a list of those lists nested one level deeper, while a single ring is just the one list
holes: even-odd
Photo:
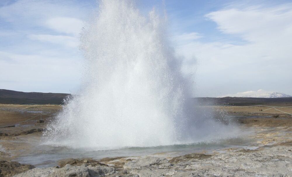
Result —
[{"label": "dark brown hill ridge on the horizon left of the geyser", "polygon": [[0,89],[2,104],[62,104],[68,93],[19,92]]}]

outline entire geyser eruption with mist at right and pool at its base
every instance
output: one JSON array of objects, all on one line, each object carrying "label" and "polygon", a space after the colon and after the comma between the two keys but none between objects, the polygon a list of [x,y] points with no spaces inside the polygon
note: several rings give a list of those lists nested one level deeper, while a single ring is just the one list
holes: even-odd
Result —
[{"label": "entire geyser eruption with mist at right and pool at its base", "polygon": [[80,90],[41,137],[24,140],[29,148],[17,160],[49,167],[64,158],[249,146],[236,123],[195,109],[193,81],[182,72],[167,24],[159,10],[145,13],[132,1],[100,1],[80,36]]}]

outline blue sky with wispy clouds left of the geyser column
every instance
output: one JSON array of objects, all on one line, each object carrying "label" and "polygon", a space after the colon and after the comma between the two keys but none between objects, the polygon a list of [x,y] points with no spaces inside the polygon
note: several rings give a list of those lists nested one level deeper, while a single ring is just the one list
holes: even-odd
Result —
[{"label": "blue sky with wispy clouds left of the geyser column", "polygon": [[1,3],[0,75],[13,81],[0,81],[1,87],[50,92],[76,88],[81,75],[77,46],[81,19],[89,11],[86,5],[55,0]]}]

